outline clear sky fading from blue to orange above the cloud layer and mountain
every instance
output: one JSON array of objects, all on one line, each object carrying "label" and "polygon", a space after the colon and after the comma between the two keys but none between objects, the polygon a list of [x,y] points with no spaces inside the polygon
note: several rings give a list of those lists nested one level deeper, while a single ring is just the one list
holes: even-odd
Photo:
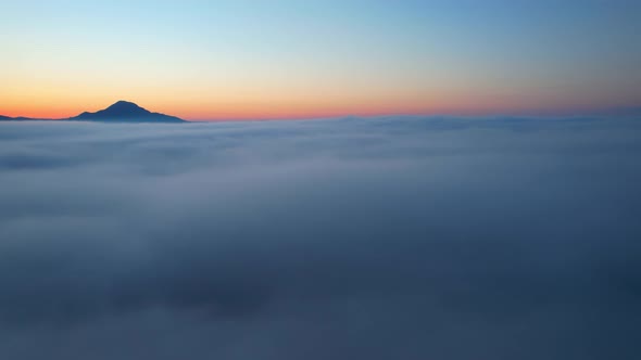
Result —
[{"label": "clear sky fading from blue to orange above the cloud layer and mountain", "polygon": [[0,114],[187,119],[641,105],[638,0],[5,1]]}]

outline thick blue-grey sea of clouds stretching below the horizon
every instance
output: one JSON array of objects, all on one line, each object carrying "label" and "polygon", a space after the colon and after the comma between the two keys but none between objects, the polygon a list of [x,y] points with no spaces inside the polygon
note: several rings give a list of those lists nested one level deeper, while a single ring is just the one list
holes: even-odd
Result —
[{"label": "thick blue-grey sea of clouds stretching below the horizon", "polygon": [[638,359],[641,124],[0,126],[2,359]]}]

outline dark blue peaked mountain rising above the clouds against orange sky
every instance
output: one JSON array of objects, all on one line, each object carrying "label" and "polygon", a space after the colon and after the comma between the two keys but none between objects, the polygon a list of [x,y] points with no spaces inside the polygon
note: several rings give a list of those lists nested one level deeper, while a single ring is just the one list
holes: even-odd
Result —
[{"label": "dark blue peaked mountain rising above the clouds against orange sky", "polygon": [[186,123],[185,120],[160,113],[152,113],[128,101],[117,103],[96,113],[83,113],[68,120],[105,123]]}]

